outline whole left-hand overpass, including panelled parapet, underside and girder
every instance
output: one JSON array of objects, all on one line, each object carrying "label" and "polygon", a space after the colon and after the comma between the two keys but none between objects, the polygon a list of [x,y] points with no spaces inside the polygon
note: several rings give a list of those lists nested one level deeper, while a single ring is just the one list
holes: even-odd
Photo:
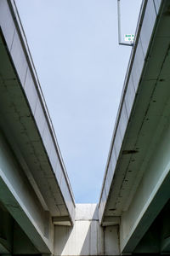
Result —
[{"label": "whole left-hand overpass, including panelled parapet, underside and girder", "polygon": [[0,253],[53,253],[54,217],[73,224],[75,203],[13,0],[0,1],[0,116]]}]

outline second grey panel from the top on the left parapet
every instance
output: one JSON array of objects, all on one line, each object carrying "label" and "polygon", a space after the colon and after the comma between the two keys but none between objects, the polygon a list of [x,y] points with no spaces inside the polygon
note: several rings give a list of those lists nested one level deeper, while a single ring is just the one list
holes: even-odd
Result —
[{"label": "second grey panel from the top on the left parapet", "polygon": [[20,43],[18,32],[14,32],[14,40],[10,51],[14,61],[14,67],[20,78],[20,84],[23,86],[26,80],[26,70],[28,67],[26,55]]}]

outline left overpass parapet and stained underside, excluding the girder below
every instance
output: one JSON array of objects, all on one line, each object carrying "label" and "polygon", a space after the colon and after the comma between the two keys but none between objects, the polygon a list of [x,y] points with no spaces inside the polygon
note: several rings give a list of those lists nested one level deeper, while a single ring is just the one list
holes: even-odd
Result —
[{"label": "left overpass parapet and stained underside, excluding the girder below", "polygon": [[13,0],[0,1],[0,126],[44,210],[74,222],[74,198]]}]

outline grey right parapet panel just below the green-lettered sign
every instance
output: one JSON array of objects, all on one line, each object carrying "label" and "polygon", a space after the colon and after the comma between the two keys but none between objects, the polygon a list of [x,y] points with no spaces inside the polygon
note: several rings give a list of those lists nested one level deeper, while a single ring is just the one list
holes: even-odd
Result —
[{"label": "grey right parapet panel just below the green-lettered sign", "polygon": [[144,53],[142,49],[141,40],[139,38],[136,54],[133,61],[133,68],[132,68],[133,84],[134,84],[135,91],[139,87],[139,80],[141,77],[143,67],[144,67]]}]

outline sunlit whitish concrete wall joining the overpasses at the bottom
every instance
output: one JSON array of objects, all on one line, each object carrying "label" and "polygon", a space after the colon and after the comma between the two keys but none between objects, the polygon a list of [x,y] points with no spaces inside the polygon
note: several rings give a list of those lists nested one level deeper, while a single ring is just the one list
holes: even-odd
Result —
[{"label": "sunlit whitish concrete wall joining the overpasses at the bottom", "polygon": [[118,227],[101,227],[96,204],[77,204],[73,227],[55,226],[54,255],[119,255]]}]

